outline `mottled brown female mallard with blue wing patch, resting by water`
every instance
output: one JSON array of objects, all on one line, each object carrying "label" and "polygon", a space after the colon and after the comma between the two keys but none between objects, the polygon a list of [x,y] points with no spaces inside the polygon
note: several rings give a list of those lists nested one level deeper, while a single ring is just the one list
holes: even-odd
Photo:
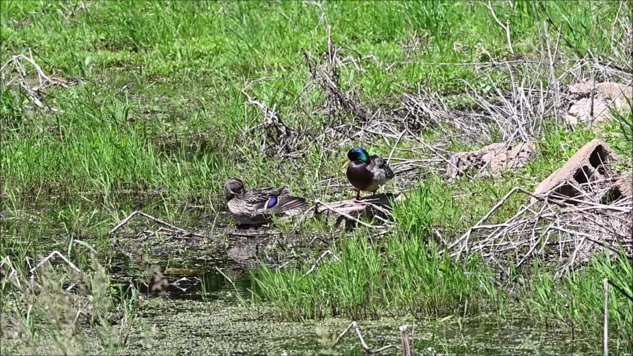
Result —
[{"label": "mottled brown female mallard with blue wing patch, resting by water", "polygon": [[285,187],[246,190],[235,178],[224,184],[224,195],[235,220],[245,225],[264,224],[275,214],[296,215],[306,205],[304,198],[290,196]]}]

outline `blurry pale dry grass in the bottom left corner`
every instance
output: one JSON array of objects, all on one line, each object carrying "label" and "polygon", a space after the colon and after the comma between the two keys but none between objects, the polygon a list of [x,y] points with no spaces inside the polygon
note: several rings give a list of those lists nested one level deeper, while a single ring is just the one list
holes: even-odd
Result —
[{"label": "blurry pale dry grass in the bottom left corner", "polygon": [[[52,340],[56,353],[89,350],[86,333],[96,334],[103,350],[124,346],[137,325],[138,293],[116,295],[110,275],[94,258],[89,272],[77,274],[49,262],[28,272],[3,258],[3,338],[17,338],[25,347]],[[111,321],[120,314],[118,330]]]}]

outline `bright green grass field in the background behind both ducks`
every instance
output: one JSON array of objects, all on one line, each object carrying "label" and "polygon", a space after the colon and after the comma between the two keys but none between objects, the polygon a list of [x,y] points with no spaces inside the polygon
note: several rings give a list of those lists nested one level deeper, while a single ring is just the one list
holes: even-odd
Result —
[{"label": "bright green grass field in the background behind both ducks", "polygon": [[[546,18],[561,24],[570,37],[573,46],[562,41],[562,51],[586,53],[589,43],[594,52],[608,48],[605,32],[593,18],[613,16],[616,3],[604,3],[598,13],[591,11],[598,8],[594,3],[532,5],[495,4],[499,19],[510,20],[515,51],[527,57],[537,53],[536,24]],[[73,8],[68,19],[53,15]],[[484,51],[494,60],[510,57],[505,34],[480,3],[343,1],[323,8],[332,40],[346,55],[372,54],[380,61],[379,66],[363,61],[365,73],[348,68],[341,73],[341,83],[353,75],[361,101],[370,107],[415,91],[416,83],[426,78],[440,94],[463,92],[462,80],[473,87],[488,80],[468,67],[424,63],[491,60],[479,58]],[[320,133],[330,118],[306,115],[298,103],[306,78],[301,48],[320,53],[327,42],[316,6],[101,2],[83,9],[77,3],[7,1],[3,10],[3,63],[9,54],[32,48],[46,72],[83,79],[70,90],[50,89],[51,101],[65,111],[61,115],[35,115],[3,94],[3,112],[8,114],[3,121],[4,195],[53,189],[109,196],[128,188],[165,189],[170,196],[200,200],[201,190],[218,191],[223,179],[246,168],[249,184],[286,182],[311,191],[307,180],[288,168],[270,177],[271,167],[294,167],[297,162],[264,159],[252,144],[242,145],[261,132],[242,136],[245,98],[240,91],[253,79],[282,75],[256,84],[253,94],[277,105],[286,124]],[[425,35],[427,43],[411,55],[411,63],[386,70],[403,60],[404,44]],[[456,41],[461,47],[454,46]],[[498,82],[503,87],[505,80]],[[128,92],[118,92],[126,85],[131,86]],[[314,104],[320,95],[313,94],[308,97]],[[253,108],[248,117],[250,127],[261,123]],[[298,158],[302,170],[318,167],[318,175],[335,174],[331,153],[326,153],[325,164],[316,163],[321,152],[314,144],[304,143],[314,156]],[[335,154],[342,153],[344,149]]]}]

